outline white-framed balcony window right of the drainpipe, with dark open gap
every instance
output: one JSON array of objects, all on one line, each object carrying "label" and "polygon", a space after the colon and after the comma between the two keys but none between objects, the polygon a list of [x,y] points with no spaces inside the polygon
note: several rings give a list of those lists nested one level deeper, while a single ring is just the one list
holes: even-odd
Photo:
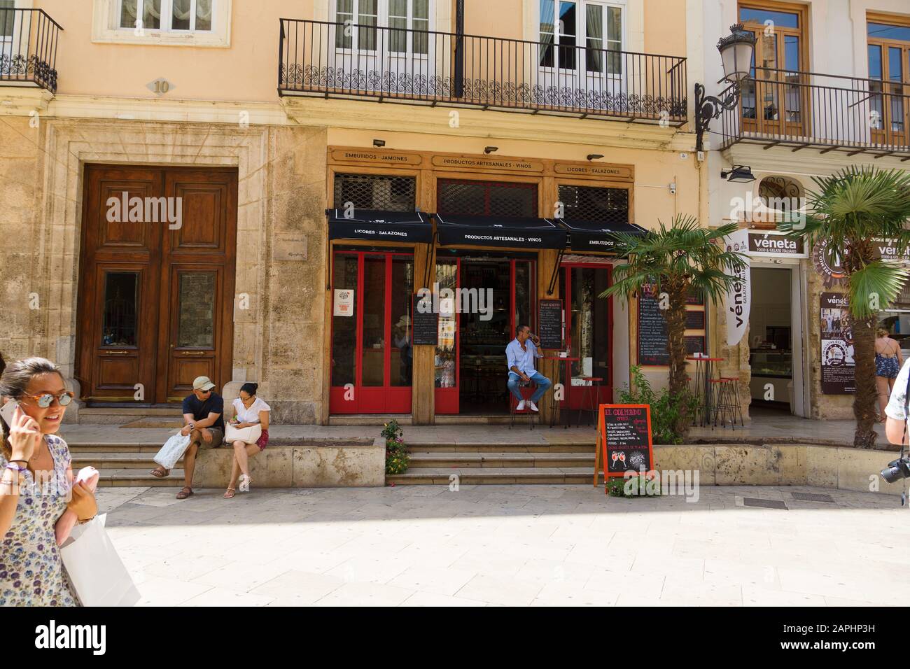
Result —
[{"label": "white-framed balcony window right of the drainpipe, with dark open gap", "polygon": [[540,66],[622,74],[622,5],[540,0]]}]

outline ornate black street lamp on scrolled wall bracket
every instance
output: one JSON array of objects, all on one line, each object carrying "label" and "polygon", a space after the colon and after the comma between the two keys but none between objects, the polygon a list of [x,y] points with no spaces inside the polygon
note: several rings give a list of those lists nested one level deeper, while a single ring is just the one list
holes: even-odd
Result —
[{"label": "ornate black street lamp on scrolled wall bracket", "polygon": [[[723,111],[733,109],[739,104],[743,80],[752,72],[755,53],[755,35],[743,29],[743,24],[730,26],[730,35],[717,43],[723,63],[723,79],[732,82],[720,96],[705,96],[704,86],[695,83],[695,150],[703,151],[704,133],[714,118],[720,117]],[[718,84],[721,81],[717,82]]]}]

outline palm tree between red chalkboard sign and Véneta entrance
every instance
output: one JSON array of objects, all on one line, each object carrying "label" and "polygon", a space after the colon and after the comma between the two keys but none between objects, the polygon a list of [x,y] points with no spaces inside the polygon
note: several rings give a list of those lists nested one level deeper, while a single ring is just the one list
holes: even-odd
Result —
[{"label": "palm tree between red chalkboard sign and V\u00e9neta entrance", "polygon": [[[644,235],[613,235],[619,258],[626,263],[613,269],[613,284],[601,297],[620,295],[628,299],[648,285],[653,285],[657,294],[666,293],[664,319],[670,340],[668,390],[672,398],[682,400],[689,390],[684,337],[686,298],[694,291],[718,301],[739,280],[734,274],[743,269],[745,256],[723,245],[723,238],[738,228],[735,223],[703,228],[697,218],[680,215],[673,218],[669,228],[660,221],[658,225],[656,230]],[[680,401],[679,408],[676,432],[684,438],[689,432],[687,402]]]}]

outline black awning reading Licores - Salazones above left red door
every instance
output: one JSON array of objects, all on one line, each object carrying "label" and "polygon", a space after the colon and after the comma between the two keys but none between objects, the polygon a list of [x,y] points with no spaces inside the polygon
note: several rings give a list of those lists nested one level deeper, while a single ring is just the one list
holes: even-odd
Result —
[{"label": "black awning reading Licores - Salazones above left red door", "polygon": [[329,239],[369,239],[370,241],[410,241],[430,244],[433,227],[430,216],[420,211],[377,211],[327,209]]}]

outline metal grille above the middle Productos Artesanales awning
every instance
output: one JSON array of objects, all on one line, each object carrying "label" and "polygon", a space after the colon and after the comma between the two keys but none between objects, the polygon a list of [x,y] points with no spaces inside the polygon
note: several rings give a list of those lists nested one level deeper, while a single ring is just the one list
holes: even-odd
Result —
[{"label": "metal grille above the middle Productos Artesanales awning", "polygon": [[537,184],[440,179],[436,208],[453,216],[537,218]]}]

